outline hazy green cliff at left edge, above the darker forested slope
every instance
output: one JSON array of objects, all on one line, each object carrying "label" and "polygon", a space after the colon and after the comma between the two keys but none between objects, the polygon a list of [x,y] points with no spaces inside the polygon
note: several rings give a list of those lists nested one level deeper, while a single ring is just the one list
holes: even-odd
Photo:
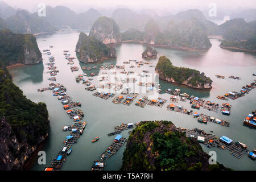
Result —
[{"label": "hazy green cliff at left edge, above the darker forested slope", "polygon": [[0,59],[11,64],[36,64],[42,61],[42,53],[32,34],[14,34],[10,30],[0,31]]}]

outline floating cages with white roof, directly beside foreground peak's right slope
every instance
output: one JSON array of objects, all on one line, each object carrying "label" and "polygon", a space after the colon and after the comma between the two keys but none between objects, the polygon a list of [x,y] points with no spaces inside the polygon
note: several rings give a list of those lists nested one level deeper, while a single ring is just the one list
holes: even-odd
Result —
[{"label": "floating cages with white roof, directly beside foreground peak's right slope", "polygon": [[214,134],[205,133],[204,130],[201,129],[183,129],[179,127],[179,131],[186,134],[189,138],[197,138],[197,140],[201,143],[204,143],[208,146],[215,146],[217,137]]}]

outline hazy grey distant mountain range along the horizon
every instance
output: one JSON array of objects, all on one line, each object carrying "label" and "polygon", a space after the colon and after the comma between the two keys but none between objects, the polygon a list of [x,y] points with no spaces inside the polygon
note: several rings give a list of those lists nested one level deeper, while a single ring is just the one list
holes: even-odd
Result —
[{"label": "hazy grey distant mountain range along the horizon", "polygon": [[[14,33],[21,34],[52,32],[61,27],[88,28],[101,16],[99,11],[92,8],[85,13],[77,14],[65,6],[47,6],[46,16],[39,17],[38,13],[30,14],[26,10],[16,10],[4,2],[0,2],[0,10],[0,29],[9,28]],[[224,16],[223,11],[218,13],[220,17]],[[113,25],[117,24],[123,32],[120,36],[122,41],[136,40],[168,47],[209,49],[211,45],[207,36],[222,35],[225,40],[221,45],[223,48],[227,47],[224,45],[232,44],[234,47],[256,49],[255,22],[246,22],[256,19],[255,9],[232,14],[232,18],[245,20],[232,19],[220,26],[205,18],[205,14],[200,10],[191,9],[175,15],[159,16],[154,10],[145,9],[135,13],[133,10],[122,8],[114,10],[112,18]],[[94,34],[96,38],[96,34],[101,35],[99,32]]]}]

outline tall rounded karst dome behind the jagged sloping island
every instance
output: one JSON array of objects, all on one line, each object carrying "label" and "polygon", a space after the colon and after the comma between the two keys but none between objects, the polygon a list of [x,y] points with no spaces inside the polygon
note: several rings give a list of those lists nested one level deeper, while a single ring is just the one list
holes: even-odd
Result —
[{"label": "tall rounded karst dome behind the jagged sloping island", "polygon": [[113,44],[121,42],[121,33],[119,26],[112,18],[101,16],[94,22],[90,30],[90,36],[94,36],[104,44]]}]

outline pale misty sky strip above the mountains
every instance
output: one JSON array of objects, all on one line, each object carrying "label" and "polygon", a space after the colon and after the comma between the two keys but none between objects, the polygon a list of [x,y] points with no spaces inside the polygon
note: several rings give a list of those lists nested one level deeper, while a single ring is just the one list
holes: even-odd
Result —
[{"label": "pale misty sky strip above the mountains", "polygon": [[[1,1],[1,0],[0,0]],[[116,9],[128,7],[130,9],[209,9],[210,3],[215,3],[217,8],[226,10],[256,8],[255,0],[2,0],[15,7],[35,11],[39,3],[48,6],[63,5],[74,11],[84,12],[89,7],[96,9]]]}]

